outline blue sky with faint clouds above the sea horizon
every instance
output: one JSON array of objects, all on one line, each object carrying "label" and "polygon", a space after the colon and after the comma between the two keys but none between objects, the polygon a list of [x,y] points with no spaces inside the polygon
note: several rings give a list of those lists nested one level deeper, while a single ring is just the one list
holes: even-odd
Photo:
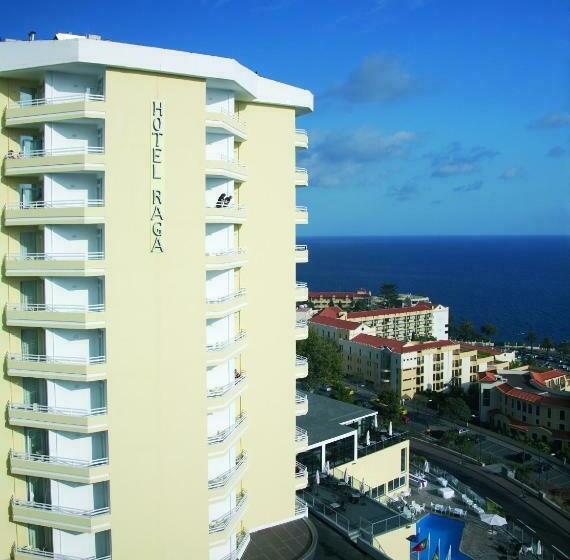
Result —
[{"label": "blue sky with faint clouds above the sea horizon", "polygon": [[31,0],[3,15],[2,36],[99,33],[311,89],[301,234],[570,234],[566,0]]}]

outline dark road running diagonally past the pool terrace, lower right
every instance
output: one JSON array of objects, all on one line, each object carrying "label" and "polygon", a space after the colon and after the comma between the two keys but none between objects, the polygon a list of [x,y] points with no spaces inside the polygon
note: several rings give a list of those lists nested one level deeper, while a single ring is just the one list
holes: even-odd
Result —
[{"label": "dark road running diagonally past the pool terrace, lower right", "polygon": [[534,496],[521,497],[520,487],[479,465],[465,463],[444,449],[421,441],[411,440],[412,451],[456,476],[477,494],[501,505],[510,517],[520,519],[534,529],[538,537],[570,554],[570,521]]}]

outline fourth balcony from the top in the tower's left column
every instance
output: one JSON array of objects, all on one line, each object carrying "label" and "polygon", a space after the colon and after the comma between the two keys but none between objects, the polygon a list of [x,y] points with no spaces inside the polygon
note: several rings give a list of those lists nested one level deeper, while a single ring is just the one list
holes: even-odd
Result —
[{"label": "fourth balcony from the top in the tower's left column", "polygon": [[9,254],[6,276],[104,276],[105,253]]}]

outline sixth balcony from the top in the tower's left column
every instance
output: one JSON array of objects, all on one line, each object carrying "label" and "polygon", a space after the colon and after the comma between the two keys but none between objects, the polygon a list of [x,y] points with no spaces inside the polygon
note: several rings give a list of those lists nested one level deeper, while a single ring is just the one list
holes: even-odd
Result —
[{"label": "sixth balcony from the top in the tower's left column", "polygon": [[6,370],[14,377],[61,379],[63,381],[100,381],[106,379],[105,356],[89,358],[46,356],[43,354],[6,354]]}]

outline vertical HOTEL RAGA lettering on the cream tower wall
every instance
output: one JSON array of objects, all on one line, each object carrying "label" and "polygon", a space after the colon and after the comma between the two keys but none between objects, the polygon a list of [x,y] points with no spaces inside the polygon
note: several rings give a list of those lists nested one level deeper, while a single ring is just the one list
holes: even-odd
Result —
[{"label": "vertical HOTEL RAGA lettering on the cream tower wall", "polygon": [[164,103],[152,101],[150,125],[151,253],[164,253]]}]

